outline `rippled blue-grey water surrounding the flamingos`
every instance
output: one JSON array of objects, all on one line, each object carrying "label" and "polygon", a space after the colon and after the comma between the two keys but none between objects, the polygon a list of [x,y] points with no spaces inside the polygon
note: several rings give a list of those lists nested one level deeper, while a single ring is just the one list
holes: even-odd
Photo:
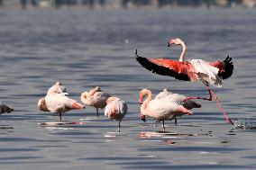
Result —
[{"label": "rippled blue-grey water surrounding the flamingos", "polygon": [[[153,75],[134,58],[177,58],[169,38],[187,44],[187,58],[233,58],[233,76],[214,89],[233,121],[256,122],[254,9],[161,9],[0,11],[0,101],[15,112],[1,115],[1,169],[254,169],[255,130],[234,129],[215,102],[202,101],[178,126],[140,120],[138,94],[149,88],[206,96],[200,82]],[[72,111],[59,126],[41,112],[38,99],[60,80],[70,97],[99,85],[128,103],[118,122],[96,110]]]}]

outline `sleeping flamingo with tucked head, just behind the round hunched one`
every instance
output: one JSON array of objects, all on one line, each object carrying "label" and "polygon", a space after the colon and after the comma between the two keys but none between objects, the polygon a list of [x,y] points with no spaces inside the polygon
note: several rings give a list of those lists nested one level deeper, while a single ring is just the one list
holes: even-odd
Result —
[{"label": "sleeping flamingo with tucked head, just behind the round hunched one", "polygon": [[110,94],[103,92],[99,86],[96,86],[89,92],[84,92],[81,94],[81,101],[88,106],[93,106],[96,108],[96,116],[98,117],[98,109],[105,108],[106,100],[110,97]]}]

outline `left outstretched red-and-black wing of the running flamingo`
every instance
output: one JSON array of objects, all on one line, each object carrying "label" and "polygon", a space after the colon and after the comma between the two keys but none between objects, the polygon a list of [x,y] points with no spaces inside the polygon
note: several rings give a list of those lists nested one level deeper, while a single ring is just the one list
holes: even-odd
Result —
[{"label": "left outstretched red-and-black wing of the running flamingo", "polygon": [[190,63],[179,62],[165,58],[142,58],[138,56],[136,50],[136,60],[153,73],[161,76],[173,76],[178,80],[190,81],[193,77]]}]

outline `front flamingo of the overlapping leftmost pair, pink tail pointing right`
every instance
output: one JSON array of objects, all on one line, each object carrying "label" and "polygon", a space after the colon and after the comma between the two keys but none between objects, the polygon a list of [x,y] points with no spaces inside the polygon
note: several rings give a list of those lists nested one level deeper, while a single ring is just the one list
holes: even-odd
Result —
[{"label": "front flamingo of the overlapping leftmost pair, pink tail pointing right", "polygon": [[59,113],[59,121],[62,121],[62,112],[82,110],[85,109],[85,106],[65,94],[47,94],[39,100],[38,108],[43,112]]}]

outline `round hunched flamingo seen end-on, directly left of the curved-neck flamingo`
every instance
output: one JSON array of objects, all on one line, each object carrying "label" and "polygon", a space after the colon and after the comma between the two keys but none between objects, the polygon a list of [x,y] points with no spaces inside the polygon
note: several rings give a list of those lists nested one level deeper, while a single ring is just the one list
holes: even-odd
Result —
[{"label": "round hunched flamingo seen end-on, directly left of the curved-neck flamingo", "polygon": [[118,121],[118,132],[120,132],[120,123],[127,109],[127,103],[118,97],[109,97],[106,100],[105,116],[111,120]]}]

